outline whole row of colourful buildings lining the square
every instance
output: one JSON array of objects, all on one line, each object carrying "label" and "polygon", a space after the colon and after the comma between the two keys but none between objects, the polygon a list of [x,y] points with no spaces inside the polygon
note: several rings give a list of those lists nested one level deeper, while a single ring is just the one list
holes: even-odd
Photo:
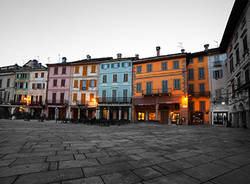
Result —
[{"label": "whole row of colourful buildings lining the square", "polygon": [[248,0],[235,1],[219,48],[1,67],[1,107],[49,119],[250,127],[249,11]]}]

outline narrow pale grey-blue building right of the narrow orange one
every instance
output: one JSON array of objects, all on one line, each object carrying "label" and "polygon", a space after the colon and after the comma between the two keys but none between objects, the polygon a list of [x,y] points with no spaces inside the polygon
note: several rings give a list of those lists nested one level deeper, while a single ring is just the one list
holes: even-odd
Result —
[{"label": "narrow pale grey-blue building right of the narrow orange one", "polygon": [[208,56],[210,121],[213,125],[226,125],[228,121],[226,59],[226,54],[220,54],[219,49]]}]

